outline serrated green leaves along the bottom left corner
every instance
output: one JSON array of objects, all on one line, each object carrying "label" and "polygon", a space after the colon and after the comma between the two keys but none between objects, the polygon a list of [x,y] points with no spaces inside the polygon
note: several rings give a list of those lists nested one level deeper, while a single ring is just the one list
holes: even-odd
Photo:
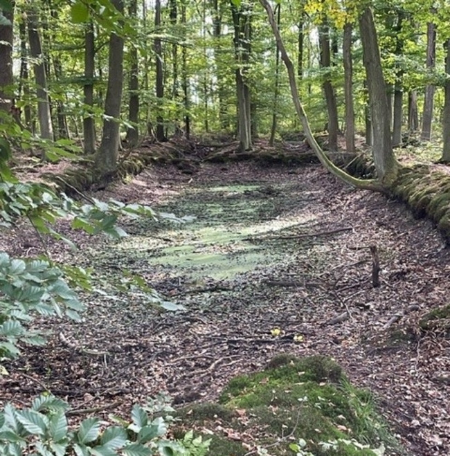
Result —
[{"label": "serrated green leaves along the bottom left corner", "polygon": [[209,441],[194,437],[192,431],[180,440],[168,439],[172,417],[153,416],[155,412],[173,410],[164,397],[146,408],[134,405],[131,421],[114,419],[118,426],[105,427],[99,418],[90,417],[71,429],[66,416],[68,409],[64,401],[48,395],[37,397],[30,408],[21,410],[6,404],[0,412],[0,454],[203,456],[208,452]]}]

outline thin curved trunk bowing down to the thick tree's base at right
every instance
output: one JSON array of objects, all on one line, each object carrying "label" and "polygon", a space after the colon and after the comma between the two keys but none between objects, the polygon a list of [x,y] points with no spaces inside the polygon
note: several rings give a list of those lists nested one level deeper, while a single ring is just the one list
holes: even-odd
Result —
[{"label": "thin curved trunk bowing down to the thick tree's base at right", "polygon": [[316,154],[317,158],[319,159],[319,161],[321,161],[323,166],[328,171],[332,172],[332,174],[342,179],[345,183],[348,183],[349,185],[352,185],[356,188],[385,192],[384,186],[379,185],[377,181],[373,181],[370,179],[357,179],[353,176],[350,176],[350,174],[346,173],[345,171],[341,170],[339,167],[334,165],[332,161],[330,161],[330,158],[327,157],[327,155],[318,145],[316,138],[314,138],[314,135],[312,134],[311,127],[309,127],[309,122],[305,113],[305,109],[303,109],[303,105],[300,102],[300,98],[298,96],[297,78],[294,70],[294,64],[289,59],[289,55],[287,55],[285,44],[282,41],[280,30],[278,30],[276,19],[273,15],[273,10],[270,6],[269,0],[260,0],[260,3],[267,12],[267,16],[269,17],[269,22],[272,28],[273,35],[275,35],[276,42],[278,44],[278,47],[280,48],[281,59],[285,63],[287,69],[287,75],[289,77],[289,89],[291,89],[291,97],[292,101],[294,102],[294,107],[296,108],[296,113],[298,115],[298,118],[300,119],[300,122],[302,122],[303,130],[305,131],[307,141],[314,150],[314,153]]}]

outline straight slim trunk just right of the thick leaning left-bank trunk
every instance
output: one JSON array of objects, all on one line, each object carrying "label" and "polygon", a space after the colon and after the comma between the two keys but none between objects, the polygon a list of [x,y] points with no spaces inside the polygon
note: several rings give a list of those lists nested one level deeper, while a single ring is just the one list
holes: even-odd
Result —
[{"label": "straight slim trunk just right of the thick leaning left-bank trunk", "polygon": [[[129,3],[129,17],[136,19],[138,12],[138,0],[131,0]],[[130,44],[129,48],[129,106],[128,120],[132,127],[127,129],[127,142],[130,147],[136,147],[139,140],[139,80],[138,80],[138,48]]]}]

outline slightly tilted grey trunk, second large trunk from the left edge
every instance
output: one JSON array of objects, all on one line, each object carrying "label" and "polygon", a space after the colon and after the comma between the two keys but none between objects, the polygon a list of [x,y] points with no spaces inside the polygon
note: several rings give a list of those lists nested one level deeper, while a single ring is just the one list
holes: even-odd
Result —
[{"label": "slightly tilted grey trunk, second large trunk from the left edge", "polygon": [[27,11],[28,40],[30,42],[30,56],[35,59],[34,71],[37,94],[37,118],[41,138],[53,139],[53,126],[51,123],[50,102],[47,91],[47,75],[42,55],[41,38],[37,20],[36,6],[31,5]]}]

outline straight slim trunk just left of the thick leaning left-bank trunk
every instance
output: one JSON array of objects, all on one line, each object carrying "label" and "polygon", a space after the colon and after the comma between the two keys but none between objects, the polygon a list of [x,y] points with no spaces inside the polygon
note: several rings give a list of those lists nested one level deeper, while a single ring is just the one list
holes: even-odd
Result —
[{"label": "straight slim trunk just left of the thick leaning left-bank trunk", "polygon": [[93,24],[89,21],[84,31],[84,106],[86,113],[83,116],[84,154],[96,152],[96,128],[93,118],[93,72],[95,66],[95,48]]}]

